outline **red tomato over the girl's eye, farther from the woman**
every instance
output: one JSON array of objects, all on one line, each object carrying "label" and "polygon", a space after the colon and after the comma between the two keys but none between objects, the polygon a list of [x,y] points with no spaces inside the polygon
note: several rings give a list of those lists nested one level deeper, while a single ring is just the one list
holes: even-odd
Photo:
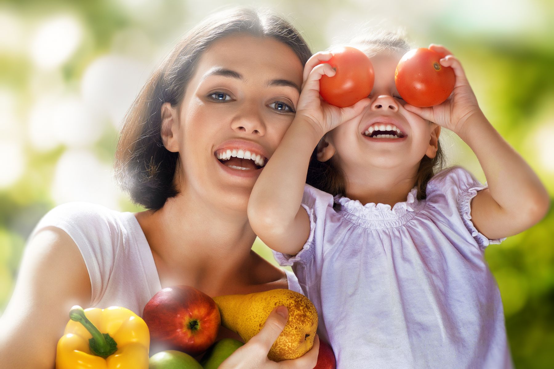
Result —
[{"label": "red tomato over the girl's eye, farther from the woman", "polygon": [[451,67],[440,65],[444,58],[436,51],[420,48],[408,51],[394,72],[396,89],[413,106],[429,107],[447,100],[456,77]]}]

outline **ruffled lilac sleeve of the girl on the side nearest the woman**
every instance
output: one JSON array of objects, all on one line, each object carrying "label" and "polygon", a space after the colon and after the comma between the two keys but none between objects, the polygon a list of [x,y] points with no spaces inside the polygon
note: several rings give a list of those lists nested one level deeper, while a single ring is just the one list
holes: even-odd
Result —
[{"label": "ruffled lilac sleeve of the girl on the side nearest the woman", "polygon": [[333,208],[333,196],[310,185],[304,186],[304,195],[300,204],[310,219],[310,235],[302,250],[295,256],[273,251],[276,261],[281,266],[292,266],[295,263],[310,263],[316,249],[322,245],[323,230],[327,211]]}]

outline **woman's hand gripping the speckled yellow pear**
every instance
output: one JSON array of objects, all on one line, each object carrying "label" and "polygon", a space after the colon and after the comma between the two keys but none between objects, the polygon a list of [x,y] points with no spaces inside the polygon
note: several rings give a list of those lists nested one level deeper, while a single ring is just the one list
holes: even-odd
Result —
[{"label": "woman's hand gripping the speckled yellow pear", "polygon": [[268,352],[285,328],[289,311],[277,306],[265,321],[260,332],[241,346],[219,365],[219,369],[308,369],[315,367],[319,354],[319,337],[315,335],[314,346],[304,356],[294,360],[271,361]]}]

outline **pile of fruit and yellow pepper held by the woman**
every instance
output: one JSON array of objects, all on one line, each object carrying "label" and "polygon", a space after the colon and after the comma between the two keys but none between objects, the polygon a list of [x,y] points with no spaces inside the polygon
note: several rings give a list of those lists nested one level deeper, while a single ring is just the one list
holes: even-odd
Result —
[{"label": "pile of fruit and yellow pepper held by the woman", "polygon": [[[58,342],[56,368],[216,369],[244,345],[230,338],[216,341],[220,326],[248,342],[279,305],[288,308],[288,321],[268,358],[300,357],[311,349],[317,329],[317,311],[304,295],[274,289],[212,299],[196,288],[178,285],[156,293],[142,318],[117,306],[74,306]],[[331,347],[320,341],[315,368],[335,366]]]}]

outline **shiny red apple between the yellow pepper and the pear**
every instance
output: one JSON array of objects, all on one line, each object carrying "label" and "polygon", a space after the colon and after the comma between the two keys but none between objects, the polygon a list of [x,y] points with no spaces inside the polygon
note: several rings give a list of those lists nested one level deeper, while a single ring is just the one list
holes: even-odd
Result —
[{"label": "shiny red apple between the yellow pepper and the pear", "polygon": [[187,285],[158,291],[144,307],[142,319],[150,329],[150,355],[161,350],[202,354],[216,341],[221,323],[216,302]]}]

